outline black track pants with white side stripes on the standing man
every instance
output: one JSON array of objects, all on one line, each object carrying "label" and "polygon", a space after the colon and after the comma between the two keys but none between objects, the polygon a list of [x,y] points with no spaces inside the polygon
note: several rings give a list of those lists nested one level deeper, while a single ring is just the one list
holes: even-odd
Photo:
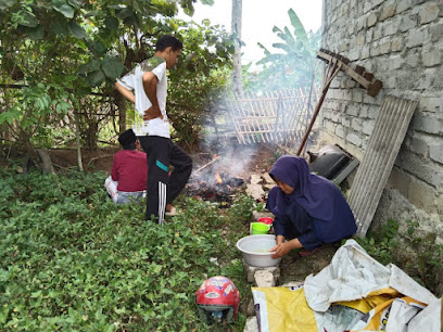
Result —
[{"label": "black track pants with white side stripes on the standing man", "polygon": [[[170,139],[159,136],[138,137],[148,157],[147,220],[153,216],[164,224],[166,204],[185,188],[192,171],[192,159]],[[174,166],[169,176],[169,165]]]}]

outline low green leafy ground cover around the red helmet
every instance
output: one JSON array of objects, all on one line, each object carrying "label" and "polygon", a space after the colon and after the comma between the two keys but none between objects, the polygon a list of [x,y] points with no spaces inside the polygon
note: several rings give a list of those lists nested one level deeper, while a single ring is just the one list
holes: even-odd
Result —
[{"label": "low green leafy ground cover around the red helmet", "polygon": [[[144,202],[112,203],[104,178],[0,170],[0,330],[205,331],[194,293],[206,278],[250,296],[235,246],[250,199],[220,213],[181,197],[183,213],[161,227],[144,220]],[[231,329],[244,322],[239,314]]]}]

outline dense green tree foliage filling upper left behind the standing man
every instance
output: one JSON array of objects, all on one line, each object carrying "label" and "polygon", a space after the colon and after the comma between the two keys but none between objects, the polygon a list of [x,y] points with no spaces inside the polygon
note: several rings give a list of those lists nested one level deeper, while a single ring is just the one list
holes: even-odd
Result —
[{"label": "dense green tree foliage filling upper left behind the standing man", "polygon": [[[214,67],[229,65],[230,37],[210,25],[188,27],[174,18],[178,7],[192,14],[193,2],[2,1],[0,128],[8,133],[2,136],[31,150],[51,144],[63,125],[69,128],[68,137],[78,129],[83,143],[93,148],[97,137],[91,135],[97,136],[100,122],[115,124],[115,78],[152,55],[163,34],[174,34],[185,43],[186,56],[177,74],[189,67],[194,71],[193,79],[174,73],[172,77],[186,79],[179,85],[188,88],[188,100],[203,103],[203,94],[192,98],[197,89],[191,87],[208,81]],[[170,101],[179,105],[178,100]],[[181,111],[168,112],[173,119],[188,120],[180,118]]]}]

